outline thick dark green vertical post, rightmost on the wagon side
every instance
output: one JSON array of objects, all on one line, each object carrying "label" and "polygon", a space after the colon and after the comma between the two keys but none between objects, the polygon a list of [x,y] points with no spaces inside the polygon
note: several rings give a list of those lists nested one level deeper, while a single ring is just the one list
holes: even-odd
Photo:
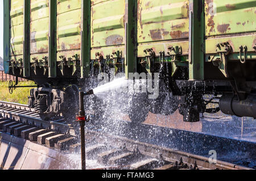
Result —
[{"label": "thick dark green vertical post, rightmost on the wagon side", "polygon": [[189,80],[204,79],[204,0],[189,0]]}]

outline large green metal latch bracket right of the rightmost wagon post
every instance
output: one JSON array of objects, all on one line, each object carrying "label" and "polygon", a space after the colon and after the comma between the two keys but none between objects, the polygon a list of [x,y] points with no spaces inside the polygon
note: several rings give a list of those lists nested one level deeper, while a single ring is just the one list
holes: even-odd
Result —
[{"label": "large green metal latch bracket right of the rightmost wagon post", "polygon": [[212,60],[214,66],[218,66],[222,74],[225,75],[226,78],[229,77],[228,74],[228,54],[232,51],[232,47],[228,42],[218,43],[216,45],[216,52],[220,54],[220,58],[216,58]]}]

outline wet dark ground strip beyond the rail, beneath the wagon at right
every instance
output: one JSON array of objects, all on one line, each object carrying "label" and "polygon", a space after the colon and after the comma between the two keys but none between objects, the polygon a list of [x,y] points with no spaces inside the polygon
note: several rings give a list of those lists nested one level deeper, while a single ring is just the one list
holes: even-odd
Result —
[{"label": "wet dark ground strip beyond the rail, beneath the wagon at right", "polygon": [[211,150],[216,151],[217,159],[255,169],[256,142],[211,135],[203,132],[191,132],[181,129],[158,127],[149,124],[133,124],[130,121],[101,121],[87,124],[88,129],[101,131],[133,140],[163,146],[210,157]]}]

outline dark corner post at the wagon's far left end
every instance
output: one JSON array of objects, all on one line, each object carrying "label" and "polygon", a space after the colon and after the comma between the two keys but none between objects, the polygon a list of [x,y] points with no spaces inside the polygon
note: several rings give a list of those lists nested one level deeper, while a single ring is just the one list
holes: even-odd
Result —
[{"label": "dark corner post at the wagon's far left end", "polygon": [[3,1],[3,24],[3,68],[5,73],[8,74],[10,60],[10,1]]}]

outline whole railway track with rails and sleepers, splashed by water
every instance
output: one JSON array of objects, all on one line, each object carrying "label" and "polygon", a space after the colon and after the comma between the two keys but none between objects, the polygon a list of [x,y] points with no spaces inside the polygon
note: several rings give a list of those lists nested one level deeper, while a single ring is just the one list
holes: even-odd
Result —
[{"label": "whole railway track with rails and sleepers, splashed by water", "polygon": [[[63,154],[79,153],[75,129],[65,120],[43,121],[26,105],[0,102],[0,132],[45,145]],[[88,169],[157,169],[157,170],[243,170],[246,167],[163,148],[108,133],[86,130],[86,159],[96,160]]]}]

